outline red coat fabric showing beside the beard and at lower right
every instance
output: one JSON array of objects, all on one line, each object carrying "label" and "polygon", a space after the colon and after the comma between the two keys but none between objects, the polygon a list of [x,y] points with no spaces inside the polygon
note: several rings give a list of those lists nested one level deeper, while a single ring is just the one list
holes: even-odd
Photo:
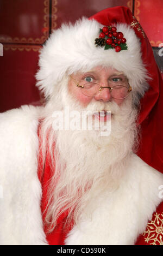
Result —
[{"label": "red coat fabric showing beside the beard and at lower right", "polygon": [[[46,199],[47,199],[46,184],[51,178],[50,174],[51,174],[51,171],[48,163],[46,162],[45,172],[42,178],[40,177],[40,172],[39,172],[39,179],[42,184],[42,201],[41,201],[42,213],[46,209]],[[65,212],[60,216],[60,218],[58,219],[57,227],[50,234],[47,233],[47,229],[46,227],[44,227],[47,242],[49,243],[49,245],[64,245],[66,235],[71,229],[71,228],[68,228],[66,230],[64,229],[64,223],[66,221],[66,217],[67,217],[67,213]],[[45,221],[45,214],[43,214],[43,221]],[[145,232],[139,235],[139,237],[137,237],[137,241],[135,242],[135,245],[163,245],[163,201],[157,207],[156,212],[153,213],[153,217],[151,220],[149,220]]]}]

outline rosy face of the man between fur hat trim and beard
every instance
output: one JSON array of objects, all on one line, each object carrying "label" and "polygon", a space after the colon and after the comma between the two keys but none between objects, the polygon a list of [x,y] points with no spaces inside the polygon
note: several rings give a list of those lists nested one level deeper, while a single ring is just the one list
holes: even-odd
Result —
[{"label": "rosy face of the man between fur hat trim and beard", "polygon": [[73,74],[68,82],[68,91],[71,95],[78,100],[78,102],[86,108],[90,102],[101,101],[104,103],[114,101],[117,105],[121,105],[125,99],[112,98],[108,88],[103,88],[101,91],[97,90],[95,96],[90,97],[83,94],[83,88],[78,87],[84,85],[86,82],[96,82],[101,86],[110,87],[112,82],[126,85],[128,87],[128,81],[126,76],[122,72],[118,72],[112,68],[102,68],[98,66],[85,73]]}]

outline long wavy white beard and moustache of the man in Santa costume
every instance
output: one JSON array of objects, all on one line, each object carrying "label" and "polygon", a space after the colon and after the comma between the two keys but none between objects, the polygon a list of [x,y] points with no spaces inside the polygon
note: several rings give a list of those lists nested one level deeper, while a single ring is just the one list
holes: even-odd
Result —
[{"label": "long wavy white beard and moustache of the man in Santa costume", "polygon": [[[84,110],[70,95],[68,96],[67,92],[62,91],[61,94],[64,104],[61,104],[60,99],[57,102],[55,98],[55,104],[60,106],[61,110],[65,106],[70,111]],[[100,136],[101,129],[56,131],[51,128],[54,121],[52,111],[51,117],[46,117],[42,124],[43,147],[47,146],[48,131],[52,168],[55,163],[54,175],[49,184],[46,216],[48,222],[51,220],[51,231],[59,215],[67,209],[67,222],[71,222],[73,218],[73,221],[78,223],[87,203],[96,200],[96,195],[105,189],[110,192],[116,189],[125,174],[127,159],[137,145],[137,111],[133,109],[129,97],[121,106],[115,102],[96,102],[90,103],[86,108],[93,112],[104,109],[110,110],[112,114],[109,136]],[[45,151],[44,149],[43,152]]]}]

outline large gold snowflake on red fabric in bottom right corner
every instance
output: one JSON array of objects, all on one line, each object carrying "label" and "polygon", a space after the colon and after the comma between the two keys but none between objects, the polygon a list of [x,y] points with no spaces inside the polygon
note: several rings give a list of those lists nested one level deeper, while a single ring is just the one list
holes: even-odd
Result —
[{"label": "large gold snowflake on red fabric in bottom right corner", "polygon": [[147,231],[143,233],[145,242],[150,245],[163,245],[163,212],[155,213],[154,221],[147,224]]}]

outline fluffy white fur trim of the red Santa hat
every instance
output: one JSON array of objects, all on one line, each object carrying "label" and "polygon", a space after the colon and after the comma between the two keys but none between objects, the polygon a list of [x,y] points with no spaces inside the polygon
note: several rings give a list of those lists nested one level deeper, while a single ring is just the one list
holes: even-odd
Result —
[{"label": "fluffy white fur trim of the red Santa hat", "polygon": [[128,50],[116,52],[96,47],[95,38],[103,25],[96,20],[83,17],[74,25],[64,24],[51,34],[40,51],[40,70],[36,74],[37,86],[45,97],[51,97],[53,88],[64,77],[74,72],[92,69],[96,66],[112,67],[123,72],[129,79],[133,92],[143,96],[147,88],[147,70],[141,58],[140,40],[129,25],[118,23],[127,39]]}]

